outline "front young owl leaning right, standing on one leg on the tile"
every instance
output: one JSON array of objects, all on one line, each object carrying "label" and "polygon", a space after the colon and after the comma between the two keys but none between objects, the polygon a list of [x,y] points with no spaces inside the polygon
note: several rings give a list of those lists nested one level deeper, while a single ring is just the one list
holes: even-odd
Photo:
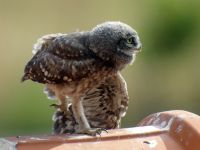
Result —
[{"label": "front young owl leaning right, standing on one leg on the tile", "polygon": [[122,22],[105,22],[85,32],[46,35],[34,45],[22,81],[44,84],[55,93],[65,115],[70,97],[76,133],[96,135],[102,129],[89,124],[84,96],[131,64],[140,49],[137,32]]}]

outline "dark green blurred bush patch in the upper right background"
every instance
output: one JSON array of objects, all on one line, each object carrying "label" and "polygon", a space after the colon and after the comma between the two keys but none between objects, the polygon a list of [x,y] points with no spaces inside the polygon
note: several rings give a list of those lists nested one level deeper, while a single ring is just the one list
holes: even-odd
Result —
[{"label": "dark green blurred bush patch in the upper right background", "polygon": [[[188,7],[188,5],[193,7]],[[197,6],[192,5],[191,2],[180,5],[180,3],[173,4],[164,1],[157,3],[156,9],[158,13],[147,27],[149,38],[151,38],[151,43],[149,43],[151,50],[148,51],[148,56],[153,54],[163,59],[163,57],[184,53],[186,49],[183,46],[190,45],[189,42],[195,40],[194,35],[199,28]]]}]

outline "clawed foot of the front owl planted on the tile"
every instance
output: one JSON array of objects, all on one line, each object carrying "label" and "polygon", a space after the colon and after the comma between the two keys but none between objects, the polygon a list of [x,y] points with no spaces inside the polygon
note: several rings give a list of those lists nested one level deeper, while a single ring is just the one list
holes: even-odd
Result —
[{"label": "clawed foot of the front owl planted on the tile", "polygon": [[103,129],[103,128],[79,129],[75,133],[87,134],[87,135],[90,135],[90,136],[96,136],[96,135],[101,136],[102,131],[105,131],[106,133],[108,133],[108,131],[106,129]]}]

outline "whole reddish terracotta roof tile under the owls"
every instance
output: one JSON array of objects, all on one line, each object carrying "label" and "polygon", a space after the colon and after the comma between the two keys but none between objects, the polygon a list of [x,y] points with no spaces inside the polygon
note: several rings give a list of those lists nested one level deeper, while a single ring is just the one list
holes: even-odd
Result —
[{"label": "whole reddish terracotta roof tile under the owls", "polygon": [[0,139],[0,150],[199,150],[200,116],[182,110],[149,115],[138,127],[109,130],[101,137],[42,135]]}]

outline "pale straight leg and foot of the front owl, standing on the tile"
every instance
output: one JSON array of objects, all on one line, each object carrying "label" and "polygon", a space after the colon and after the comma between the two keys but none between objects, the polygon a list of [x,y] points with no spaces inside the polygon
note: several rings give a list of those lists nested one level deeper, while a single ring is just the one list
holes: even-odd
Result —
[{"label": "pale straight leg and foot of the front owl, standing on the tile", "polygon": [[76,119],[76,122],[79,124],[79,129],[75,131],[76,133],[95,136],[97,134],[101,134],[102,131],[105,131],[105,129],[90,127],[84,113],[82,98],[75,97],[72,100],[72,110],[73,110],[73,114]]}]

